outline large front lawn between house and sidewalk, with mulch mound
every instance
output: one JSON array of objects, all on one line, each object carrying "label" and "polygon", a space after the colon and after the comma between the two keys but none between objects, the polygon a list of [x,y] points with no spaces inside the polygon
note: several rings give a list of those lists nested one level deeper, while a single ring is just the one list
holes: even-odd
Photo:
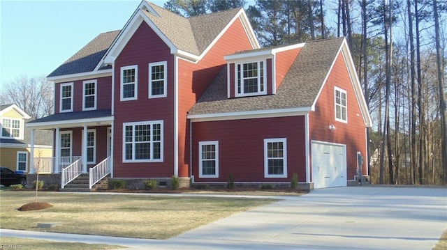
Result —
[{"label": "large front lawn between house and sidewalk, with mulch mound", "polygon": [[[73,194],[39,192],[45,210],[18,211],[34,202],[35,192],[1,191],[1,228],[168,239],[231,214],[273,203],[269,198],[210,198],[132,194]],[[58,222],[54,228],[37,228],[39,222]]]}]

